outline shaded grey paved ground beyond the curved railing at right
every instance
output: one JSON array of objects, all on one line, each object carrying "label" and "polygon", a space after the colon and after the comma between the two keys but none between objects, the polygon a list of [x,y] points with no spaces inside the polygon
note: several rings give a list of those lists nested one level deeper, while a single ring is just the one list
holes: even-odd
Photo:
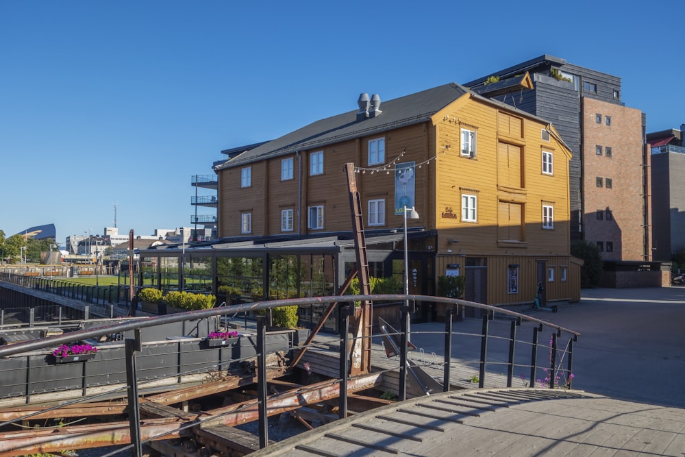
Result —
[{"label": "shaded grey paved ground beyond the curved railing at right", "polygon": [[[575,343],[573,388],[685,408],[685,287],[584,289],[580,302],[556,313],[527,314],[581,333]],[[454,323],[454,330],[478,333],[480,325],[479,319],[471,319]],[[440,332],[444,327],[443,323],[413,324],[412,342],[427,353],[443,354],[443,341],[421,332]],[[521,332],[527,331],[524,325]],[[452,355],[467,362],[460,351],[477,356],[473,352],[477,345],[476,337],[463,339],[453,345]],[[490,345],[488,357],[506,360],[506,345]],[[473,366],[477,373],[477,365]],[[525,372],[515,371],[514,376]]]}]

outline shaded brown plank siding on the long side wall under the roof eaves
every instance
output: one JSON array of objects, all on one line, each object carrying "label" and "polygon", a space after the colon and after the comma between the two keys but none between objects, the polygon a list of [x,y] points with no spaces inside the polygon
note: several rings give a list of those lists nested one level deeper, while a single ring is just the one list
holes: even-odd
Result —
[{"label": "shaded brown plank siding on the long side wall under the roof eaves", "polygon": [[[368,143],[375,138],[385,139],[385,163],[393,162],[386,169],[376,169],[377,167],[368,164]],[[362,199],[364,221],[368,221],[369,217],[369,200],[385,200],[384,223],[366,228],[373,230],[401,226],[401,216],[395,216],[394,211],[394,163],[422,164],[434,157],[433,145],[427,125],[419,124],[392,130],[385,135],[376,134],[337,143],[325,149],[300,151],[299,154],[253,163],[252,186],[249,188],[240,188],[240,169],[244,167],[224,169],[220,171],[220,236],[240,236],[240,212],[247,211],[252,213],[254,235],[317,234],[351,230],[347,175],[343,170],[347,162],[353,162],[364,169],[364,173],[357,173],[355,176]],[[321,150],[324,153],[323,174],[312,176],[310,153]],[[293,177],[292,180],[282,181],[281,163],[286,158],[293,160]],[[430,192],[434,181],[434,164],[433,161],[416,168],[416,210],[421,214],[421,219],[410,221],[410,226],[431,227],[435,223],[435,208]],[[323,229],[308,228],[310,206],[323,206]],[[281,230],[281,211],[286,209],[292,209],[294,213],[292,232]]]}]

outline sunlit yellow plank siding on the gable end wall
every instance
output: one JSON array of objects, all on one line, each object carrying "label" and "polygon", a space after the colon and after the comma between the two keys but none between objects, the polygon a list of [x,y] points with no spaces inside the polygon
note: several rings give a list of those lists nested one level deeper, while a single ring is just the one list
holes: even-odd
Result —
[{"label": "sunlit yellow plank siding on the gable end wall", "polygon": [[[521,254],[528,255],[569,254],[569,151],[553,136],[549,142],[542,140],[540,132],[545,124],[539,121],[524,119],[519,138],[514,138],[509,121],[506,121],[507,134],[499,134],[498,121],[510,114],[478,101],[458,101],[453,105],[434,116],[437,150],[447,151],[439,154],[436,166],[438,251],[445,254],[447,249],[455,248],[447,243],[447,238],[453,238],[460,241],[456,247],[461,254],[502,254],[498,227],[509,223],[499,221],[499,205],[503,202],[515,203],[523,210],[521,240],[525,241],[525,245],[502,246],[505,251],[523,249]],[[512,121],[518,119],[511,117]],[[475,158],[461,156],[455,145],[461,125],[477,126]],[[500,147],[520,151],[521,165],[517,173],[519,184],[524,184],[525,188],[498,186],[503,179],[501,174],[506,175],[507,184],[512,179],[509,156],[507,166],[499,163]],[[553,175],[542,172],[543,150],[553,154]],[[462,193],[477,195],[476,223],[462,221]],[[554,208],[553,230],[542,228],[543,201]]]}]

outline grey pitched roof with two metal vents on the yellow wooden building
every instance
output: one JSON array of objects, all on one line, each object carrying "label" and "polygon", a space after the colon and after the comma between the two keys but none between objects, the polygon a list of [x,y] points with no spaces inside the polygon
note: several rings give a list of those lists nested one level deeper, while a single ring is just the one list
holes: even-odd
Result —
[{"label": "grey pitched roof with two metal vents on the yellow wooden building", "polygon": [[422,123],[466,93],[473,92],[458,84],[450,83],[405,97],[383,101],[380,106],[382,113],[373,118],[357,121],[358,110],[353,110],[321,119],[245,151],[236,158],[216,166],[216,169],[232,168],[295,151],[324,147],[343,140],[373,135],[404,125]]}]

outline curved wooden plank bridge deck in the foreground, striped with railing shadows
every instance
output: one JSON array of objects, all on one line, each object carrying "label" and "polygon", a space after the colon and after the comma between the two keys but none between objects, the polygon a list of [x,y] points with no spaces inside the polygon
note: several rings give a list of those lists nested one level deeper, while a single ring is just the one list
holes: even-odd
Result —
[{"label": "curved wooden plank bridge deck in the foreground, striped with railing shadows", "polygon": [[262,456],[557,456],[685,453],[685,410],[538,388],[408,399],[323,425]]}]

